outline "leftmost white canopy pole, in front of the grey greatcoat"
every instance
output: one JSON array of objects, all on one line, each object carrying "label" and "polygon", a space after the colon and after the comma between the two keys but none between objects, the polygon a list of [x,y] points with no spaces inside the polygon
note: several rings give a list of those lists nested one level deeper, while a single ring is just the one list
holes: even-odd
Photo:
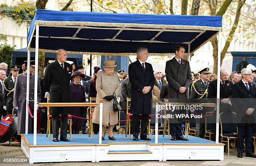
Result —
[{"label": "leftmost white canopy pole, in front of the grey greatcoat", "polygon": [[[25,134],[28,134],[28,101],[29,101],[29,73],[30,73],[30,47],[28,49],[28,62],[27,62],[27,89],[26,89],[26,124]],[[20,109],[20,108],[18,108]]]}]

